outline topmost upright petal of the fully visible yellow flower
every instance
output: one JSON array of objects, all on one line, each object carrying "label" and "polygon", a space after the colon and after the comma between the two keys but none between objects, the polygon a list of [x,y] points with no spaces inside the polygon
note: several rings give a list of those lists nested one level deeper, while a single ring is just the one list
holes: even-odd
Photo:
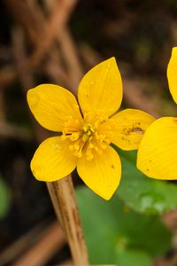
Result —
[{"label": "topmost upright petal of the fully visible yellow flower", "polygon": [[81,80],[78,92],[82,113],[115,113],[122,100],[122,82],[114,58],[93,67]]}]

